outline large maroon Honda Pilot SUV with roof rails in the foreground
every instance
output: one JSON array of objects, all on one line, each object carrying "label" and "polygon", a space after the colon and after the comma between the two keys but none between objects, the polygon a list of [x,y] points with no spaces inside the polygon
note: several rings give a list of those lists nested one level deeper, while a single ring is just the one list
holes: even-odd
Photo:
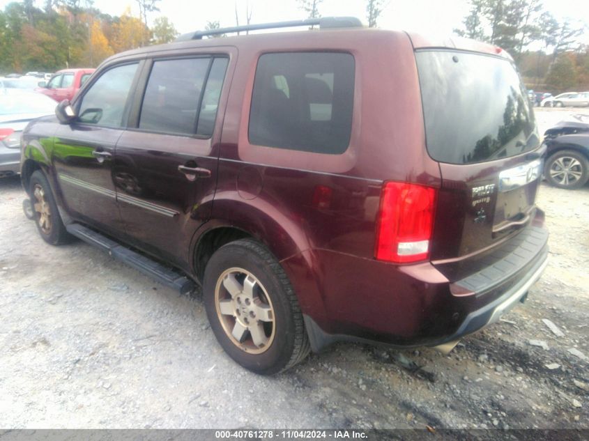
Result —
[{"label": "large maroon Honda Pilot SUV with roof rails in the foreground", "polygon": [[449,350],[546,265],[514,63],[472,40],[296,24],[321,30],[215,29],[102,63],[25,131],[38,231],[201,284],[220,345],[257,373],[335,341]]}]

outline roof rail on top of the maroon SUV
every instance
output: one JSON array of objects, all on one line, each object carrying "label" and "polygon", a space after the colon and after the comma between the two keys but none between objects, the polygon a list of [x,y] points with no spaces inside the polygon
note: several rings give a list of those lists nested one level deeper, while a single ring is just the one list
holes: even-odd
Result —
[{"label": "roof rail on top of the maroon SUV", "polygon": [[224,33],[245,31],[259,31],[260,29],[293,28],[298,26],[314,26],[319,24],[319,29],[362,27],[362,22],[356,17],[322,17],[309,18],[307,20],[291,20],[290,22],[274,22],[248,24],[246,26],[232,26],[230,28],[209,29],[208,31],[196,31],[183,33],[176,41],[201,40],[206,36],[219,36]]}]

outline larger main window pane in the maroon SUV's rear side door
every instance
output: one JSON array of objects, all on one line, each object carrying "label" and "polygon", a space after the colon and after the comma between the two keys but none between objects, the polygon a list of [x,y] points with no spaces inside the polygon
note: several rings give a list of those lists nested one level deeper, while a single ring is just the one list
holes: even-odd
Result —
[{"label": "larger main window pane in the maroon SUV's rear side door", "polygon": [[194,134],[209,63],[208,58],[155,61],[143,98],[139,128]]}]

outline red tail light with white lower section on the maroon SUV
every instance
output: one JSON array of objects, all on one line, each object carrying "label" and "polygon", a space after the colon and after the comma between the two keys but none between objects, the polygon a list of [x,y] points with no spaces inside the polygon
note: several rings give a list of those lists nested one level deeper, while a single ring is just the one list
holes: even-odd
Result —
[{"label": "red tail light with white lower section on the maroon SUV", "polygon": [[375,257],[395,263],[429,258],[435,206],[434,188],[409,183],[385,183],[378,210]]}]

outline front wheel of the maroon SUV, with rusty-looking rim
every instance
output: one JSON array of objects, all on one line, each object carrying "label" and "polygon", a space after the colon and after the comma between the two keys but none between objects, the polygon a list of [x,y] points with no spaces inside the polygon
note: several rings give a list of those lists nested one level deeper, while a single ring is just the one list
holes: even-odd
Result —
[{"label": "front wheel of the maroon SUV, with rusty-looking rim", "polygon": [[43,240],[50,245],[70,242],[72,236],[63,226],[51,187],[42,171],[37,170],[31,175],[29,194],[35,212],[35,224]]}]

